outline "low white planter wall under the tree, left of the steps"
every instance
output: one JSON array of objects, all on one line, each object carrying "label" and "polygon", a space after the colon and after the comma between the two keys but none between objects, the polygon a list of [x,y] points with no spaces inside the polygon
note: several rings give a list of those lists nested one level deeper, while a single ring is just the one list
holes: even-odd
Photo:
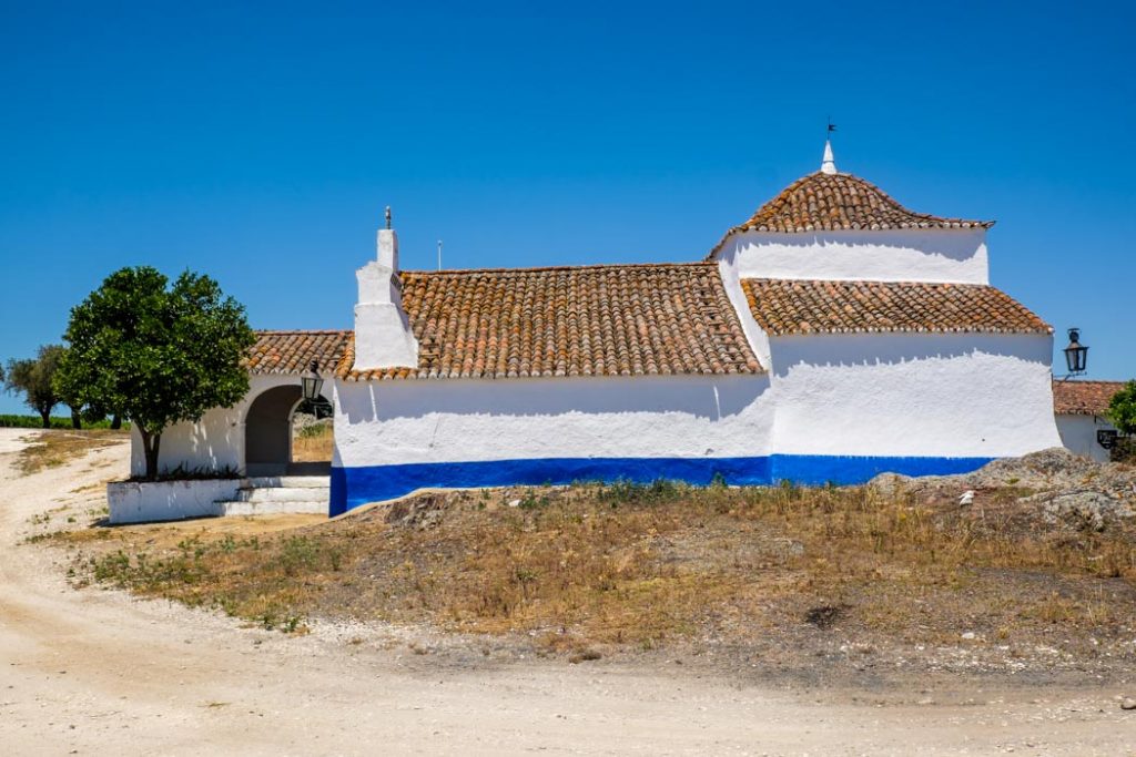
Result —
[{"label": "low white planter wall under the tree, left of the steps", "polygon": [[240,486],[240,479],[108,483],[109,520],[117,524],[220,515],[217,502],[236,498]]}]

